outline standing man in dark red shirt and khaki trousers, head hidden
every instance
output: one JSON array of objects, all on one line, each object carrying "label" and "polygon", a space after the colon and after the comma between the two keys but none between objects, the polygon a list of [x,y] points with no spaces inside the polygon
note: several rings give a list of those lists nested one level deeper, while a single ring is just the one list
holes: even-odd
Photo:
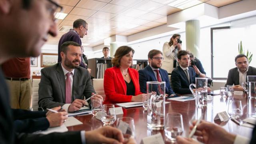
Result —
[{"label": "standing man in dark red shirt and khaki trousers, head hidden", "polygon": [[32,95],[30,58],[13,58],[2,64],[6,83],[10,89],[11,108],[28,110]]}]

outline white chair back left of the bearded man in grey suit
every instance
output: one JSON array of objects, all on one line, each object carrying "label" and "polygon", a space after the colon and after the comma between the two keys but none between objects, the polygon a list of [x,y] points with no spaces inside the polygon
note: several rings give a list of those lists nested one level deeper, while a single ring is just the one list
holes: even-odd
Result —
[{"label": "white chair back left of the bearded man in grey suit", "polygon": [[38,88],[41,79],[33,79],[32,81],[32,98],[30,102],[30,107],[34,110],[38,109]]}]

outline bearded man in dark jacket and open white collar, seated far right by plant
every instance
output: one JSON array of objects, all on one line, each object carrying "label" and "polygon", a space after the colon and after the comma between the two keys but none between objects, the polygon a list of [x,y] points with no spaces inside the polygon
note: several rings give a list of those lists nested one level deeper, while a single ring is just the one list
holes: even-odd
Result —
[{"label": "bearded man in dark jacket and open white collar, seated far right by plant", "polygon": [[249,66],[248,58],[244,54],[238,54],[235,62],[236,68],[229,70],[225,87],[234,84],[234,90],[244,91],[242,82],[247,82],[247,76],[256,76],[256,68]]}]

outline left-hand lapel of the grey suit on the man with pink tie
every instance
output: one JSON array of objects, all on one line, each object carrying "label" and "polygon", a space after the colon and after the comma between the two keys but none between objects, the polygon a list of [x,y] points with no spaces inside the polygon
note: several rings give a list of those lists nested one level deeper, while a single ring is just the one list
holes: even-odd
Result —
[{"label": "left-hand lapel of the grey suit on the man with pink tie", "polygon": [[60,84],[60,89],[62,92],[62,102],[65,103],[65,89],[66,89],[66,82],[65,82],[65,76],[64,76],[64,72],[62,70],[61,67],[61,62],[57,65],[56,68],[56,76],[58,78],[59,84]]}]

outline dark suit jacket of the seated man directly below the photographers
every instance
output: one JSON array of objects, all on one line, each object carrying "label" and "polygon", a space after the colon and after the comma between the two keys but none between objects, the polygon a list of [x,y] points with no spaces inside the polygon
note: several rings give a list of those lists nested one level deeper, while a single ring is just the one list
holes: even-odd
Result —
[{"label": "dark suit jacket of the seated man directly below the photographers", "polygon": [[190,84],[195,84],[196,82],[196,72],[193,68],[188,67],[188,73],[190,76],[190,82],[188,82],[188,78],[186,76],[186,73],[180,66],[176,67],[172,71],[172,86],[173,90],[177,94],[191,94],[191,91],[189,89]]}]

